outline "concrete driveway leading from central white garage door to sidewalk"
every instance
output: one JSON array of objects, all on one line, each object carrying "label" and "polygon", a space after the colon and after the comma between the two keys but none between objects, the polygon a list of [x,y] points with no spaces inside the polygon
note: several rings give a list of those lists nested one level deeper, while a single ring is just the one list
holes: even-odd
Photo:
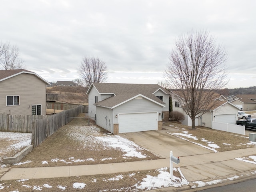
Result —
[{"label": "concrete driveway leading from central white garage door to sidewalk", "polygon": [[163,128],[166,130],[122,133],[119,135],[135,142],[160,158],[170,158],[170,151],[178,157],[213,153],[212,150],[167,133],[181,132],[182,130],[168,126],[163,126]]}]

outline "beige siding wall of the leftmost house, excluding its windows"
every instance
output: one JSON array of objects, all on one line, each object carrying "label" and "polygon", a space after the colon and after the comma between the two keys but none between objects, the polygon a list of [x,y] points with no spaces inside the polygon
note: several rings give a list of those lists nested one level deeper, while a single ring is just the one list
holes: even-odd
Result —
[{"label": "beige siding wall of the leftmost house, excluding its windows", "polygon": [[[20,104],[6,106],[6,96],[19,96]],[[42,105],[42,115],[46,114],[45,82],[25,73],[0,82],[0,113],[31,115],[32,105]]]}]

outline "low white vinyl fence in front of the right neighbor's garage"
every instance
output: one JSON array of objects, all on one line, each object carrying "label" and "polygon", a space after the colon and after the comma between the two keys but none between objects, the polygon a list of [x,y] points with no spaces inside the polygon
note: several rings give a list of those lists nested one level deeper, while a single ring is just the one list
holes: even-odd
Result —
[{"label": "low white vinyl fence in front of the right neighbor's garage", "polygon": [[212,122],[212,129],[226,131],[236,134],[245,135],[245,126],[229,124],[229,123],[219,123],[219,122]]}]

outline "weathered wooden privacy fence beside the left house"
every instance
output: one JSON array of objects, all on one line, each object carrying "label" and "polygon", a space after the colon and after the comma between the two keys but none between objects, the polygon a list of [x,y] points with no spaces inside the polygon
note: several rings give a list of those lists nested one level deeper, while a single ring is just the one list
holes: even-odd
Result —
[{"label": "weathered wooden privacy fence beside the left house", "polygon": [[37,147],[58,128],[72,120],[71,118],[66,120],[66,116],[76,117],[80,113],[84,113],[82,105],[50,116],[15,116],[3,113],[0,114],[0,131],[32,133],[31,144]]}]

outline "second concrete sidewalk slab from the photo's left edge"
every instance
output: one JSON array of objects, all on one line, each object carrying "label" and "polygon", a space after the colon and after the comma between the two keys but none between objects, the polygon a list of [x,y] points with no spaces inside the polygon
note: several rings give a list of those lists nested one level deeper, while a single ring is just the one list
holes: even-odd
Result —
[{"label": "second concrete sidewalk slab from the photo's left edge", "polygon": [[69,166],[59,167],[38,167],[33,179],[39,178],[54,178],[54,177],[68,177]]}]

